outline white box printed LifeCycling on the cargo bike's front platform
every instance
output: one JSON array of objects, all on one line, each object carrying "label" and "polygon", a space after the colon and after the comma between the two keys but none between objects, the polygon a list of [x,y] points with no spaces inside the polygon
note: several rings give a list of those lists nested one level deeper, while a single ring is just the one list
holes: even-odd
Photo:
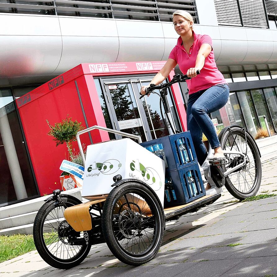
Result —
[{"label": "white box printed LifeCycling on the cargo bike's front platform", "polygon": [[163,206],[165,162],[129,138],[87,147],[82,197],[93,200],[110,193],[118,174],[148,184]]}]

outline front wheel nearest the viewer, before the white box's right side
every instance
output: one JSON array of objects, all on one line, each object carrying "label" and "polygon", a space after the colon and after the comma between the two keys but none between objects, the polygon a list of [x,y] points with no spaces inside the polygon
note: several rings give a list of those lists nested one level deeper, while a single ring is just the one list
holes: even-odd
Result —
[{"label": "front wheel nearest the viewer, before the white box's right side", "polygon": [[114,188],[102,214],[108,247],[120,261],[138,266],[153,259],[163,237],[163,211],[152,191],[136,182]]}]

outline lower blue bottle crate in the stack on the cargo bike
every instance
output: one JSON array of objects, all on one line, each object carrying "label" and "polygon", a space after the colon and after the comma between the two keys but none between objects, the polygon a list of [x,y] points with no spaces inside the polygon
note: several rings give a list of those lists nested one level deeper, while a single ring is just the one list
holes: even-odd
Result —
[{"label": "lower blue bottle crate in the stack on the cargo bike", "polygon": [[165,177],[165,208],[183,205],[206,195],[198,164],[167,171]]}]

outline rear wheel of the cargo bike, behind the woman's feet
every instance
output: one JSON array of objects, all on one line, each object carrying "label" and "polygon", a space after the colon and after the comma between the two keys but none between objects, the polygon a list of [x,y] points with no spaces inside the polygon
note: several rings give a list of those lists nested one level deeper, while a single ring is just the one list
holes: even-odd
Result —
[{"label": "rear wheel of the cargo bike, behind the woman's feet", "polygon": [[[223,134],[221,148],[228,151],[242,152],[246,157],[246,165],[226,176],[225,187],[235,198],[243,200],[255,195],[261,184],[261,160],[257,146],[242,128],[233,127]],[[225,154],[228,163],[223,165],[227,170],[238,165],[242,157],[236,154]]]}]

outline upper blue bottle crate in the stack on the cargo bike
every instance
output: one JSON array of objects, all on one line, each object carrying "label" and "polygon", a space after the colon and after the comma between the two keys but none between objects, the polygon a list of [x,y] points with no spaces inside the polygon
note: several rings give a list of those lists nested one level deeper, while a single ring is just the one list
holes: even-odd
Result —
[{"label": "upper blue bottle crate in the stack on the cargo bike", "polygon": [[[140,145],[163,158],[166,161],[166,171],[197,164],[197,157],[189,131],[153,139],[140,143]],[[164,151],[164,156],[161,154],[161,148]]]}]

